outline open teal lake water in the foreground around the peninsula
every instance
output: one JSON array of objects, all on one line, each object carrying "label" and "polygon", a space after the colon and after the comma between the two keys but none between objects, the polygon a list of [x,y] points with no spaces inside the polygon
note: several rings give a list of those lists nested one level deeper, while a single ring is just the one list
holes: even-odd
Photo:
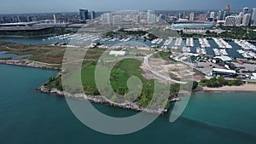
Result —
[{"label": "open teal lake water in the foreground around the peninsula", "polygon": [[[256,96],[253,93],[195,94],[183,116],[174,123],[169,122],[168,115],[160,116],[136,133],[105,135],[79,122],[65,98],[34,90],[55,74],[49,70],[0,65],[0,143],[256,143]],[[113,116],[136,113],[95,106]]]}]

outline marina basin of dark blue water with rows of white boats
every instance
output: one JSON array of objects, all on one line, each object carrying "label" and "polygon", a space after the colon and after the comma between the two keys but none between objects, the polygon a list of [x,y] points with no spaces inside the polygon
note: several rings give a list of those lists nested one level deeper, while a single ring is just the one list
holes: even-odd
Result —
[{"label": "marina basin of dark blue water with rows of white boats", "polygon": [[[152,41],[137,39],[135,37],[101,37],[94,34],[76,34],[69,33],[54,37],[38,37],[36,38],[2,38],[3,41],[20,43],[26,41],[31,44],[52,44],[52,45],[85,45],[90,43],[101,43],[99,47],[118,49],[122,46],[118,43],[124,42],[137,42],[143,43],[148,46],[148,49],[160,48],[160,49],[181,49],[186,53],[193,53],[197,55],[227,55],[232,58],[249,59],[255,58],[255,43],[248,43],[246,40],[232,40],[224,41],[221,38],[181,38],[181,37],[169,37],[167,39],[156,38]],[[1,38],[0,38],[1,40]],[[220,44],[221,43],[221,44]],[[129,46],[132,47],[132,46]],[[189,47],[189,48],[184,48]],[[197,47],[200,48],[197,49]],[[221,47],[221,48],[220,48]],[[201,50],[206,48],[206,50]],[[232,48],[232,49],[227,49]],[[206,52],[205,52],[206,51]],[[203,54],[202,54],[203,52]]]}]

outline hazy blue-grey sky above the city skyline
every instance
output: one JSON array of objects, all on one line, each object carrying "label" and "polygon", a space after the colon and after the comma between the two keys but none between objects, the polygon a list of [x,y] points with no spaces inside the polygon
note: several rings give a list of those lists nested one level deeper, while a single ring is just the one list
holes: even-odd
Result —
[{"label": "hazy blue-grey sky above the city skyline", "polygon": [[256,7],[255,0],[1,0],[0,14],[104,10],[231,9]]}]

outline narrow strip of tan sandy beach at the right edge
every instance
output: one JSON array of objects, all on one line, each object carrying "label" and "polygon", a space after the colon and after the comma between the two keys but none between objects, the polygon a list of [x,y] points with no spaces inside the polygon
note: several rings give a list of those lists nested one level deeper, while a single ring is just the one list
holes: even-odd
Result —
[{"label": "narrow strip of tan sandy beach at the right edge", "polygon": [[256,84],[244,84],[241,86],[224,86],[221,88],[203,87],[203,91],[221,91],[221,92],[256,92]]}]

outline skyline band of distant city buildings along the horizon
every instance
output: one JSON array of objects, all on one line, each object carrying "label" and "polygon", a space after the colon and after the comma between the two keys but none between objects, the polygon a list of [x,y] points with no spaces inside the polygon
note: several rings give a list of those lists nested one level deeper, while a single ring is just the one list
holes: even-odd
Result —
[{"label": "skyline band of distant city buildings along the horizon", "polygon": [[[88,9],[79,9],[76,13],[56,13],[56,14],[2,14],[0,15],[0,24],[15,22],[38,22],[44,23],[45,26],[66,26],[67,24],[84,25],[90,20],[95,20],[96,16],[100,16],[95,20],[97,25],[156,25],[160,20],[172,23],[193,23],[198,26],[200,22],[212,23],[214,25],[224,26],[251,26],[256,25],[256,8],[241,9],[240,13],[230,11],[231,6],[227,5],[225,9],[212,11],[154,11],[132,12],[129,14],[101,13]],[[199,23],[198,23],[199,22]],[[178,24],[183,25],[183,24]],[[204,26],[202,26],[204,27]],[[189,27],[191,28],[191,27]],[[197,27],[201,28],[201,27]],[[191,31],[188,29],[188,31]]]}]

